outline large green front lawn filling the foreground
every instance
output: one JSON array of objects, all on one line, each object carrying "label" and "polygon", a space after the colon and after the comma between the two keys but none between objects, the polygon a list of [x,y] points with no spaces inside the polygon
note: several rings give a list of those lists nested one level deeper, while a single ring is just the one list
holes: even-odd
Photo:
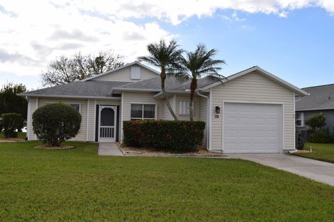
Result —
[{"label": "large green front lawn filling the foreground", "polygon": [[0,221],[331,221],[334,188],[243,160],[0,144]]}]

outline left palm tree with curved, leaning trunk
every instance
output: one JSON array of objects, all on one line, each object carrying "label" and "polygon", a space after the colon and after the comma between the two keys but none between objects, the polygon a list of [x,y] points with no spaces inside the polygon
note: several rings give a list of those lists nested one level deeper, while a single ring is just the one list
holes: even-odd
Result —
[{"label": "left palm tree with curved, leaning trunk", "polygon": [[141,56],[138,57],[138,60],[148,62],[150,65],[160,69],[161,92],[170,114],[177,120],[175,112],[168,101],[165,81],[168,75],[175,75],[180,70],[180,58],[182,57],[183,50],[180,49],[176,40],[171,40],[169,44],[165,40],[160,40],[157,43],[148,44],[147,49],[150,56]]}]

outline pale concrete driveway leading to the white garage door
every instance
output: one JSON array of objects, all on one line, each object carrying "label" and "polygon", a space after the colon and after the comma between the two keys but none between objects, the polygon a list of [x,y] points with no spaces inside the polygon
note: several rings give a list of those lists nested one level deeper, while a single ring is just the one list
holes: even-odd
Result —
[{"label": "pale concrete driveway leading to the white garage door", "polygon": [[334,186],[334,164],[282,153],[235,153],[228,156],[296,173]]}]

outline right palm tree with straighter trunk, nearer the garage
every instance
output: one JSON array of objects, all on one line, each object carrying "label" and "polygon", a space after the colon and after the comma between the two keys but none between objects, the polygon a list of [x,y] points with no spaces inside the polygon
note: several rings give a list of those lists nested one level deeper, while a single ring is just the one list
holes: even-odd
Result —
[{"label": "right palm tree with straighter trunk, nearer the garage", "polygon": [[184,72],[178,77],[183,80],[191,80],[190,83],[190,103],[189,115],[190,121],[193,121],[193,97],[197,89],[198,80],[202,77],[211,80],[223,80],[225,77],[218,74],[221,67],[218,65],[226,64],[224,60],[214,60],[217,50],[207,51],[205,44],[198,44],[195,51],[186,52],[186,58],[181,58],[182,69]]}]

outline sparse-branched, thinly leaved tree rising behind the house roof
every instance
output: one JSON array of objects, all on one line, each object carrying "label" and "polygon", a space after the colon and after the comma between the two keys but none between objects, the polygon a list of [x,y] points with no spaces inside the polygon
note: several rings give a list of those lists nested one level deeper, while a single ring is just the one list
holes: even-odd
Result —
[{"label": "sparse-branched, thinly leaved tree rising behind the house roof", "polygon": [[100,51],[97,56],[74,54],[72,57],[61,56],[52,61],[45,73],[42,73],[42,85],[62,85],[82,80],[104,71],[124,65],[122,56],[112,51]]}]

